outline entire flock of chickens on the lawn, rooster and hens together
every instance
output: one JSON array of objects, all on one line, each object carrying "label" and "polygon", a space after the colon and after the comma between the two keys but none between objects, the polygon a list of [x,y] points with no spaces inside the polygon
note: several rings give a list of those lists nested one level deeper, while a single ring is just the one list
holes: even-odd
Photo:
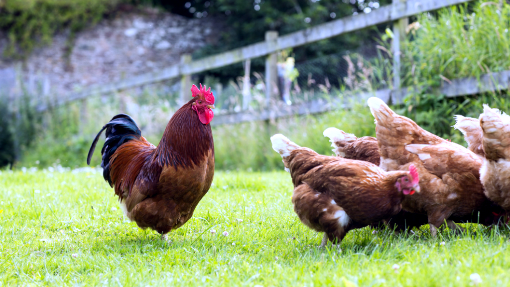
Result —
[{"label": "entire flock of chickens on the lawn, rooster and hens together", "polygon": [[[208,192],[214,175],[211,88],[191,88],[193,99],[170,119],[156,147],[126,114],[101,133],[104,178],[124,214],[162,236],[185,224]],[[376,136],[357,138],[336,128],[324,136],[337,156],[319,155],[281,134],[271,137],[294,184],[292,203],[305,225],[324,232],[322,245],[340,243],[367,225],[406,230],[430,225],[436,236],[445,222],[504,224],[510,211],[510,117],[484,106],[479,120],[456,117],[468,149],[433,135],[411,119],[370,98]]]}]

